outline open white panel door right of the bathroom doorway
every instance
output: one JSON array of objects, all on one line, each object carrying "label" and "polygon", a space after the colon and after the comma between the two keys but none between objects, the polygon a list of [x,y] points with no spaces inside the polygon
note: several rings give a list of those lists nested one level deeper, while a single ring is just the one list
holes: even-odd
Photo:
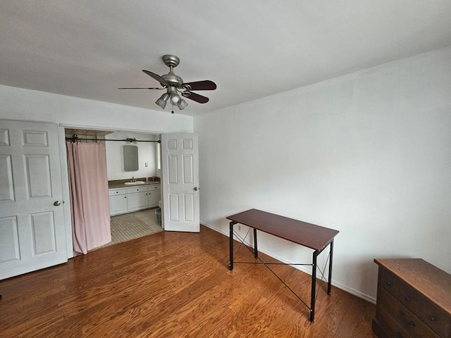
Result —
[{"label": "open white panel door right of the bathroom doorway", "polygon": [[197,134],[161,134],[163,228],[199,232]]}]

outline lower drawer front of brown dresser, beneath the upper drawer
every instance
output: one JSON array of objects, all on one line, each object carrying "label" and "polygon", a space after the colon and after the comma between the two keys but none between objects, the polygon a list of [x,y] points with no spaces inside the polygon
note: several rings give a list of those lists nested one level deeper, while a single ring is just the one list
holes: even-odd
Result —
[{"label": "lower drawer front of brown dresser, beneath the upper drawer", "polygon": [[[440,338],[431,328],[426,326],[416,315],[414,315],[408,308],[406,308],[400,301],[395,299],[391,294],[383,289],[381,294],[378,295],[378,301],[381,303],[381,308],[384,315],[392,318],[393,323],[395,323],[396,327],[400,327],[401,335],[398,334],[397,337],[405,337],[405,333],[407,333],[407,337],[415,337],[415,338]],[[382,315],[382,318],[384,317]],[[380,317],[381,315],[379,315]],[[376,315],[376,318],[378,316]],[[378,318],[378,320],[381,320]],[[401,330],[402,329],[402,330]],[[392,332],[393,333],[393,332]],[[396,337],[396,336],[394,336]]]}]

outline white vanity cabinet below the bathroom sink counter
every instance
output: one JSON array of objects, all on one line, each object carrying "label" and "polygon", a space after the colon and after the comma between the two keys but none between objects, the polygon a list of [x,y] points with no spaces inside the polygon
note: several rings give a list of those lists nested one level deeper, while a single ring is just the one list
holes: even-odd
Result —
[{"label": "white vanity cabinet below the bathroom sink counter", "polygon": [[109,189],[110,215],[155,208],[161,199],[160,184]]}]

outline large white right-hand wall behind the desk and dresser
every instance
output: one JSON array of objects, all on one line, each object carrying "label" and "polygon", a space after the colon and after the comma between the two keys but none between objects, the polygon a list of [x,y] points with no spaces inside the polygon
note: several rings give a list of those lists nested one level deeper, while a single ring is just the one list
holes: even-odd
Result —
[{"label": "large white right-hand wall behind the desk and dresser", "polygon": [[333,284],[370,301],[373,258],[451,273],[451,48],[200,115],[194,132],[204,224],[227,234],[226,216],[259,208],[339,230]]}]

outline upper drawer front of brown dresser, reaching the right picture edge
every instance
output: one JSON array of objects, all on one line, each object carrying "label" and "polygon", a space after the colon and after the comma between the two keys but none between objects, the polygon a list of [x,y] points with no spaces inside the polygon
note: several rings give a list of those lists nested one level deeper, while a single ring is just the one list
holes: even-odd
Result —
[{"label": "upper drawer front of brown dresser, reaching the right picture edge", "polygon": [[451,318],[445,311],[428,301],[422,294],[407,285],[398,289],[400,302],[415,313],[428,327],[437,332],[440,337],[448,337]]}]

